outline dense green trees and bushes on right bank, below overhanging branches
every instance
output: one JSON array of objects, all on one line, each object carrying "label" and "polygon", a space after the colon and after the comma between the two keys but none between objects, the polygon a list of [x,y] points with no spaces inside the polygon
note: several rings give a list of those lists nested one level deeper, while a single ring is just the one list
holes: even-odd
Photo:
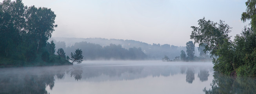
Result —
[{"label": "dense green trees and bushes on right bank, below overhanging branches", "polygon": [[[212,21],[200,19],[200,27],[192,27],[191,39],[204,46],[203,51],[210,51],[214,63],[214,71],[231,74],[236,72],[238,76],[256,76],[255,48],[256,34],[253,26],[245,27],[241,35],[236,35],[234,41],[230,40],[227,24],[220,21],[219,27],[216,27]],[[209,25],[210,23],[210,25]],[[211,34],[214,33],[214,34]],[[210,38],[211,40],[207,39]],[[221,39],[221,40],[220,40]]]}]

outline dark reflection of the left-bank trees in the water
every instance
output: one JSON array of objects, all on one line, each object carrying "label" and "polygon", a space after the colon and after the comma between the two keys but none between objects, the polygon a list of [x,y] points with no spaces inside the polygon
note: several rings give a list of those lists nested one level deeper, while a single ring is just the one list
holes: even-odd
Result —
[{"label": "dark reflection of the left-bank trees in the water", "polygon": [[0,94],[48,94],[54,87],[54,76],[62,79],[67,66],[0,69]]}]

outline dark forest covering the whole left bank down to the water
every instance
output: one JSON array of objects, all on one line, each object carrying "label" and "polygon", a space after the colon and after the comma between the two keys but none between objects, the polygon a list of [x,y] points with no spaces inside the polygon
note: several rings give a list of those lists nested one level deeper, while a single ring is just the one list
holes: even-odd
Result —
[{"label": "dark forest covering the whole left bank down to the water", "polygon": [[46,7],[27,7],[22,0],[0,3],[0,67],[71,64],[48,43],[56,15]]}]

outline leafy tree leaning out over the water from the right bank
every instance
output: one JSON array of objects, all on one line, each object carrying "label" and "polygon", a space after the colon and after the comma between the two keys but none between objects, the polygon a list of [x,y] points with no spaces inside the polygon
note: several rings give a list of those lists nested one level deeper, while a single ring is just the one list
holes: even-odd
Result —
[{"label": "leafy tree leaning out over the water from the right bank", "polygon": [[205,18],[198,20],[198,25],[199,27],[191,26],[193,31],[190,38],[194,39],[194,43],[199,43],[199,46],[204,46],[205,51],[209,51],[211,56],[218,56],[216,52],[219,46],[224,43],[224,39],[230,39],[228,33],[231,32],[231,27],[222,20],[214,23]]}]

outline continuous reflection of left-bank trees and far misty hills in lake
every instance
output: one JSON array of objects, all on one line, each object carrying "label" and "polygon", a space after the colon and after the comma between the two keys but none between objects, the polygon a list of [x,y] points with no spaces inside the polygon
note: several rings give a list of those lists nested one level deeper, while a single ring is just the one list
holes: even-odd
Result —
[{"label": "continuous reflection of left-bank trees and far misty hills in lake", "polygon": [[[207,68],[206,68],[207,69]],[[210,67],[211,69],[211,67]],[[209,70],[209,69],[207,69]],[[0,94],[48,94],[46,87],[54,89],[55,80],[67,81],[125,81],[147,77],[160,78],[182,74],[183,81],[192,83],[194,74],[207,81],[205,67],[189,65],[95,65],[79,64],[54,67],[27,67],[0,69]],[[185,76],[186,74],[186,76]],[[184,77],[185,76],[185,77]],[[202,91],[201,91],[202,92]],[[205,90],[205,92],[207,92]]]}]

